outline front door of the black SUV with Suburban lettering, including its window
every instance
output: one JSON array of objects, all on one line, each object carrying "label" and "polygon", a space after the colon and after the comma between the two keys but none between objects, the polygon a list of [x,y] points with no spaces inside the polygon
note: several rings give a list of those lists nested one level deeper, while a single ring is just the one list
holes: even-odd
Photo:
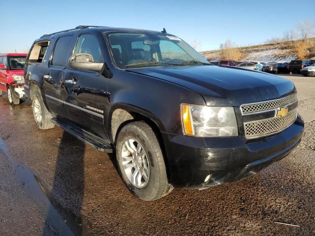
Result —
[{"label": "front door of the black SUV with Suburban lettering, including its window", "polygon": [[[100,44],[94,34],[79,35],[73,53],[90,54],[94,62],[104,62]],[[107,99],[107,79],[99,72],[71,68],[65,76],[64,106],[67,117],[106,139],[103,114]]]}]

